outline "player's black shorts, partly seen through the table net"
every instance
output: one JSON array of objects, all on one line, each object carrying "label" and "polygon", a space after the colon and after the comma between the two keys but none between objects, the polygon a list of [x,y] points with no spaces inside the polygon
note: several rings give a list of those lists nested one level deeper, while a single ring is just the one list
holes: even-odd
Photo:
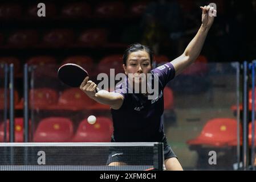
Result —
[{"label": "player's black shorts, partly seen through the table net", "polygon": [[[177,158],[165,137],[162,139],[162,143],[164,144],[164,160]],[[127,165],[138,166],[153,164],[152,150],[147,151],[144,147],[129,147],[129,150],[125,150],[124,147],[109,148],[109,151],[107,165],[113,162],[123,162]]]}]

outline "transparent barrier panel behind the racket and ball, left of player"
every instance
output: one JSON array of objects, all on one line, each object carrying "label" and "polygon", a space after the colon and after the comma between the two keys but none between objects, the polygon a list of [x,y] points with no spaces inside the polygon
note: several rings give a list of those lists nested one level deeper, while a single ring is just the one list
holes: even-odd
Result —
[{"label": "transparent barrier panel behind the racket and ball, left of player", "polygon": [[[64,85],[57,77],[59,67],[60,65],[31,67],[31,140],[110,142],[113,133],[110,107],[98,104],[79,88]],[[87,68],[86,65],[82,67]],[[89,74],[90,79],[97,82],[95,72]],[[93,125],[87,121],[90,115],[96,117]]]}]

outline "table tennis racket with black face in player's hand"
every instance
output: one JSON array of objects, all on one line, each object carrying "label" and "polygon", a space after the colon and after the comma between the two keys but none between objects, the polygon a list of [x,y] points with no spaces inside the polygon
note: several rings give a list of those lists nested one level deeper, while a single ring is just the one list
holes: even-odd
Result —
[{"label": "table tennis racket with black face in player's hand", "polygon": [[[73,63],[63,64],[58,70],[58,78],[71,87],[79,87],[87,76],[88,72],[84,68]],[[98,88],[95,90],[99,91]]]}]

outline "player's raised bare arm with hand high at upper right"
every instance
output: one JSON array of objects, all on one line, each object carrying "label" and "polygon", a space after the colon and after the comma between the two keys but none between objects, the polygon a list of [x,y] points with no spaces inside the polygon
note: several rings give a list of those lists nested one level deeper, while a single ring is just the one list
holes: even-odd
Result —
[{"label": "player's raised bare arm with hand high at upper right", "polygon": [[202,9],[202,25],[200,29],[193,40],[188,44],[184,53],[170,62],[175,69],[176,76],[184,71],[184,69],[192,64],[200,55],[206,36],[213,24],[214,16],[210,16],[209,11],[216,13],[216,10],[213,10],[213,7],[210,6],[201,6],[200,8]]}]

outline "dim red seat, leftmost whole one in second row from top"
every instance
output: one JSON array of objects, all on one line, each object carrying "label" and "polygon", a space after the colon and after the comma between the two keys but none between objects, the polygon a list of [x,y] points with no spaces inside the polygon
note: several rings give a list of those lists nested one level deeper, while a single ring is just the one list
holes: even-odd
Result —
[{"label": "dim red seat, leftmost whole one in second row from top", "polygon": [[10,46],[27,47],[38,43],[38,33],[35,30],[21,30],[14,32],[7,40]]}]

